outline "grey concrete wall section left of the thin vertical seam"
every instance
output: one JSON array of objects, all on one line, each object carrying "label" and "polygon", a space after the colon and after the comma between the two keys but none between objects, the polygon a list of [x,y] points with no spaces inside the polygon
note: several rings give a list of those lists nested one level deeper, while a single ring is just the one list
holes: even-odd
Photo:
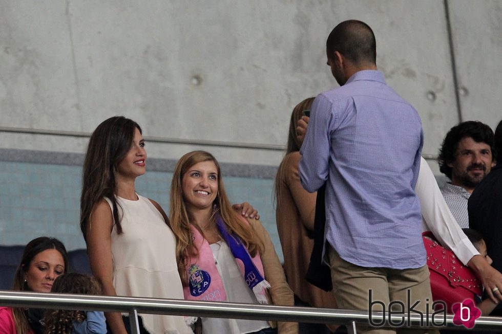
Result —
[{"label": "grey concrete wall section left of the thin vertical seam", "polygon": [[80,130],[65,12],[65,1],[0,5],[0,126]]}]

